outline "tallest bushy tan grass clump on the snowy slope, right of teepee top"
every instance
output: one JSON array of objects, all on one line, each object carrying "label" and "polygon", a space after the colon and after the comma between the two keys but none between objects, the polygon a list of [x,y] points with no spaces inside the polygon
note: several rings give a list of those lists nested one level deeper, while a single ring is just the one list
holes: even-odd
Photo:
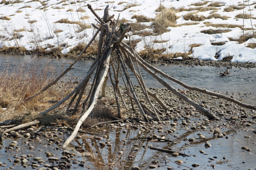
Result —
[{"label": "tallest bushy tan grass clump on the snowy slope, right of teepee top", "polygon": [[165,8],[159,12],[154,21],[154,33],[162,34],[167,32],[167,27],[176,27],[175,22],[179,18],[173,8]]}]

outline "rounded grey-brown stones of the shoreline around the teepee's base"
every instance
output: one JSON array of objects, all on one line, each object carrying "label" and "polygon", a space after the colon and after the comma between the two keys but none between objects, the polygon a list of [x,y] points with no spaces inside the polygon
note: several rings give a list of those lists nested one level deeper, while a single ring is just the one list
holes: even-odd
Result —
[{"label": "rounded grey-brown stones of the shoreline around the teepee's base", "polygon": [[[135,87],[135,90],[139,93],[139,88]],[[137,137],[162,138],[164,136],[170,136],[165,138],[172,141],[166,142],[168,147],[175,147],[179,145],[179,143],[185,141],[187,144],[181,148],[178,147],[176,150],[177,152],[175,152],[175,154],[177,154],[179,150],[189,149],[187,146],[196,145],[197,143],[201,143],[201,145],[204,145],[206,149],[213,147],[210,143],[213,143],[214,139],[228,139],[230,135],[234,133],[233,128],[235,127],[237,129],[250,131],[251,135],[255,135],[256,133],[256,131],[253,131],[253,127],[255,128],[256,125],[256,115],[255,111],[253,110],[242,108],[236,104],[219,99],[217,97],[211,97],[199,92],[179,89],[179,91],[182,91],[186,96],[198,102],[202,107],[206,108],[215,115],[215,120],[208,120],[206,117],[202,116],[195,108],[186,104],[183,100],[179,99],[169,90],[164,88],[151,88],[150,90],[154,91],[154,93],[156,93],[167,104],[168,110],[164,111],[160,105],[153,101],[153,104],[155,104],[162,112],[162,114],[159,114],[161,121],[155,121],[149,117],[150,122],[146,123],[143,120],[143,116],[139,113],[139,110],[135,108],[133,111],[131,104],[128,104],[129,112],[124,112],[122,114],[123,120],[94,126],[92,129],[88,129],[90,133],[94,134],[79,133],[75,140],[83,139],[89,142],[91,147],[98,146],[101,148],[111,148],[112,145],[117,145],[117,141],[110,140],[110,130],[116,129],[118,133],[122,134],[127,134],[129,131],[134,131],[137,134]],[[110,86],[107,86],[106,94],[108,97],[114,98],[113,91]],[[239,100],[243,100],[243,95],[238,92],[226,92],[225,95],[235,96]],[[142,103],[145,102],[140,94],[138,97]],[[128,101],[128,99],[125,98],[125,101]],[[110,104],[106,102],[105,105],[111,109],[116,108],[116,105],[113,103]],[[7,160],[1,159],[0,166],[4,167],[5,169],[17,169],[17,167],[23,167],[24,169],[32,168],[39,170],[58,170],[73,169],[75,167],[88,167],[86,164],[86,159],[88,158],[83,158],[83,156],[79,154],[79,152],[82,152],[85,155],[92,154],[90,153],[90,150],[88,149],[88,146],[85,142],[80,144],[78,142],[76,145],[72,144],[69,146],[69,148],[67,148],[67,150],[63,150],[61,148],[66,138],[65,136],[70,135],[70,131],[68,130],[69,128],[72,128],[72,126],[63,126],[61,124],[56,124],[54,126],[38,125],[38,127],[31,126],[17,132],[12,131],[10,133],[3,134],[0,142],[0,151],[4,150],[6,155],[14,154],[14,156],[11,156]],[[0,129],[1,133],[3,130],[5,129]],[[81,132],[82,131],[85,131],[85,129],[81,129]],[[206,133],[197,133],[198,131]],[[197,133],[197,137],[189,137],[189,134],[191,133]],[[244,136],[244,138],[250,138],[250,136],[247,135]],[[24,144],[17,142],[21,139]],[[134,142],[128,139],[129,138],[124,138],[118,145],[129,145],[131,146],[131,152],[135,153],[143,148],[142,145],[138,145],[138,142]],[[5,143],[5,141],[8,142]],[[33,146],[32,143],[34,145],[38,145],[39,149],[38,146]],[[152,146],[153,145],[147,145],[147,147]],[[52,150],[49,151],[49,148]],[[29,150],[34,154],[32,155],[23,153],[25,151],[28,153]],[[243,146],[242,150],[253,153],[255,152],[253,148],[249,148],[248,146]],[[200,151],[200,153],[201,152],[204,153],[205,151]],[[171,154],[168,157],[170,157],[170,159],[182,159],[181,155],[175,154]],[[120,155],[122,155],[121,152]],[[133,155],[129,152],[126,156],[129,159],[127,160],[127,165],[125,165],[124,169],[147,169],[161,167],[159,160],[153,159],[151,160],[152,162],[150,161],[151,163],[148,162],[148,165],[131,167],[131,165],[134,164],[133,161],[136,155]],[[183,163],[182,160],[179,161],[179,163]],[[175,166],[175,164],[172,164],[172,166]],[[193,164],[188,166],[200,165]],[[173,167],[168,166],[166,168],[172,169]]]}]

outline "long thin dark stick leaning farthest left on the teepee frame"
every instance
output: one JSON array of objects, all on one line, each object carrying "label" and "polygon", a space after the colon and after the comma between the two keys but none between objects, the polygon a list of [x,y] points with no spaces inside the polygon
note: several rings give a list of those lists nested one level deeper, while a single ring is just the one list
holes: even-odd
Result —
[{"label": "long thin dark stick leaning farthest left on the teepee frame", "polygon": [[49,87],[51,87],[53,84],[57,83],[58,80],[60,78],[62,78],[69,70],[72,70],[73,65],[79,60],[79,58],[82,56],[82,54],[85,52],[85,50],[91,45],[91,43],[94,41],[94,39],[96,38],[96,36],[98,35],[99,31],[101,30],[101,27],[99,27],[97,29],[97,31],[95,32],[94,36],[91,38],[90,42],[86,45],[86,47],[83,49],[83,51],[79,54],[79,56],[75,59],[75,61],[61,74],[59,75],[59,77],[57,77],[53,82],[51,82],[50,84],[48,84],[47,86],[45,86],[40,92],[38,92],[37,94],[28,97],[27,99],[25,99],[24,102],[27,102],[29,100],[32,100],[34,97],[40,95],[42,92],[46,91]]}]

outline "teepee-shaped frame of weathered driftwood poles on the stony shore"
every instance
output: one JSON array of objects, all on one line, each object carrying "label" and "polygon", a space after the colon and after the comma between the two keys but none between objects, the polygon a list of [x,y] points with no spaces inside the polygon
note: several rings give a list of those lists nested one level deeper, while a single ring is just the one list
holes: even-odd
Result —
[{"label": "teepee-shaped frame of weathered driftwood poles on the stony shore", "polygon": [[[83,51],[79,54],[77,59],[57,79],[55,79],[53,82],[48,84],[45,88],[43,88],[40,92],[38,92],[34,96],[31,96],[25,100],[25,102],[26,102],[26,101],[33,99],[35,96],[38,96],[39,94],[41,94],[42,92],[47,90],[50,86],[55,84],[69,70],[73,69],[72,68],[73,65],[79,60],[81,55],[90,46],[90,44],[94,41],[94,39],[100,32],[97,57],[94,60],[94,62],[91,64],[91,67],[90,67],[87,75],[85,76],[85,78],[63,100],[59,101],[56,105],[52,106],[51,108],[47,109],[46,111],[40,113],[41,115],[45,115],[46,113],[50,112],[54,108],[57,108],[58,106],[60,106],[66,100],[70,99],[73,96],[70,100],[69,106],[67,107],[67,111],[69,111],[71,104],[73,104],[73,102],[75,101],[75,98],[78,96],[77,100],[76,100],[75,108],[73,109],[73,113],[72,113],[72,114],[74,114],[77,111],[77,108],[81,102],[82,95],[84,93],[85,87],[87,86],[89,78],[91,77],[93,72],[96,70],[96,73],[95,73],[95,76],[93,79],[93,83],[90,88],[89,95],[87,96],[87,99],[83,103],[83,107],[82,107],[83,114],[82,114],[81,118],[79,119],[79,121],[77,122],[77,125],[75,126],[73,133],[63,144],[63,148],[66,147],[75,138],[81,124],[83,123],[83,121],[85,121],[85,119],[92,112],[93,108],[95,107],[95,104],[97,103],[97,98],[98,98],[99,92],[102,90],[102,95],[103,96],[106,95],[105,87],[106,87],[106,82],[108,80],[108,74],[109,74],[110,81],[113,85],[119,118],[121,118],[121,113],[120,113],[120,105],[119,105],[118,96],[122,100],[124,107],[127,109],[125,101],[123,100],[123,95],[125,94],[131,100],[135,101],[135,103],[137,104],[137,107],[139,108],[139,110],[140,110],[141,114],[143,115],[144,120],[146,122],[149,121],[146,115],[149,115],[153,119],[160,121],[160,119],[158,117],[158,113],[160,113],[161,111],[159,111],[158,108],[155,107],[155,105],[150,101],[149,96],[153,97],[161,105],[161,107],[164,110],[167,110],[167,107],[166,107],[165,103],[163,103],[157,95],[155,95],[153,92],[151,92],[149,89],[146,88],[145,83],[142,79],[142,75],[139,71],[139,67],[142,67],[145,71],[147,71],[147,73],[149,73],[152,77],[154,77],[156,80],[158,80],[158,82],[161,83],[164,87],[169,89],[171,92],[173,92],[179,98],[183,99],[184,101],[186,101],[187,103],[189,103],[190,105],[195,107],[200,113],[202,113],[209,119],[214,119],[214,115],[211,114],[206,109],[202,108],[198,103],[190,100],[185,95],[181,94],[178,90],[176,90],[175,88],[170,86],[170,84],[168,84],[161,77],[159,77],[159,75],[161,75],[162,77],[165,77],[169,80],[172,80],[173,82],[178,83],[179,85],[181,85],[189,90],[196,90],[196,91],[208,94],[208,95],[220,97],[222,99],[236,103],[242,107],[256,110],[255,106],[242,103],[242,102],[240,102],[236,99],[233,99],[231,97],[228,97],[228,96],[225,96],[225,95],[222,95],[219,93],[211,92],[208,90],[204,90],[204,89],[201,89],[198,87],[191,87],[191,86],[171,77],[170,75],[163,73],[161,70],[153,67],[149,63],[145,62],[130,46],[128,46],[126,43],[124,43],[122,41],[123,37],[126,35],[127,32],[133,31],[133,29],[129,26],[129,23],[122,24],[122,25],[120,25],[120,27],[116,28],[117,22],[114,22],[114,15],[109,16],[109,13],[108,13],[109,6],[106,6],[106,8],[105,8],[103,19],[101,19],[95,13],[95,11],[91,8],[91,6],[89,4],[87,6],[91,10],[91,12],[95,15],[98,23],[100,24],[99,27],[95,24],[92,24],[93,27],[95,29],[97,29],[97,31],[95,32],[91,41],[83,49]],[[119,16],[118,16],[118,18],[119,18]],[[117,21],[118,21],[118,19],[117,19]],[[116,56],[111,55],[113,52],[115,52]],[[136,63],[136,64],[134,64],[134,63]],[[128,74],[128,68],[135,75],[137,82],[139,84],[139,87],[141,88],[141,91],[151,108],[149,108],[146,105],[139,102],[137,94],[134,91],[133,83]],[[113,71],[113,75],[111,73],[111,69]],[[123,94],[118,85],[118,82],[119,82],[118,75],[121,75],[121,77],[125,83],[126,91]],[[123,75],[125,78],[123,77]],[[115,82],[114,82],[114,80],[115,80]],[[88,107],[87,107],[87,110],[85,111],[85,106],[87,104],[88,104]],[[12,130],[21,129],[21,128],[24,128],[27,126],[31,126],[31,125],[37,124],[37,123],[39,123],[39,121],[33,121],[33,122],[29,122],[27,124],[22,124],[22,125],[14,127],[14,128],[8,129],[4,133],[10,132]]]}]

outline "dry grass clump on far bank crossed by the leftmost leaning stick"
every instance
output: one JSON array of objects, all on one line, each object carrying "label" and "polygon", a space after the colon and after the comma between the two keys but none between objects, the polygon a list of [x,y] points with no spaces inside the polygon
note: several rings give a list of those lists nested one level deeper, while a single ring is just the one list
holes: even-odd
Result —
[{"label": "dry grass clump on far bank crossed by the leftmost leaning stick", "polygon": [[[68,53],[65,54],[65,57],[77,57],[82,50],[86,47],[87,44],[85,43],[79,43],[77,46],[74,48],[70,49]],[[97,55],[98,51],[98,44],[97,42],[93,42],[87,50],[82,54],[82,58],[86,58],[88,56],[95,56]]]}]

